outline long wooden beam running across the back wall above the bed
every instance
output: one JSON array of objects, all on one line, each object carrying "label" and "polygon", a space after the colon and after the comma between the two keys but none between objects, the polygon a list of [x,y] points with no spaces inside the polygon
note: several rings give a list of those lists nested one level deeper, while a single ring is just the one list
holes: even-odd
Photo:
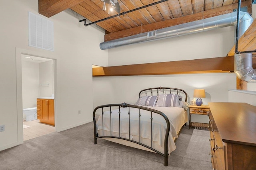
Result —
[{"label": "long wooden beam running across the back wall above the bed", "polygon": [[234,71],[234,57],[92,68],[92,76],[135,76]]}]

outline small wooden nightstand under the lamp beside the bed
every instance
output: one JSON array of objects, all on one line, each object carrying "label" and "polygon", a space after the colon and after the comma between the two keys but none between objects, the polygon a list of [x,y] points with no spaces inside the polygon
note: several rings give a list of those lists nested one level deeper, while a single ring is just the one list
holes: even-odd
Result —
[{"label": "small wooden nightstand under the lamp beside the bed", "polygon": [[209,116],[210,107],[208,105],[202,105],[202,106],[190,105],[189,106],[189,128],[190,127],[206,127],[206,128],[209,127],[209,123],[192,122],[191,115],[193,114]]}]

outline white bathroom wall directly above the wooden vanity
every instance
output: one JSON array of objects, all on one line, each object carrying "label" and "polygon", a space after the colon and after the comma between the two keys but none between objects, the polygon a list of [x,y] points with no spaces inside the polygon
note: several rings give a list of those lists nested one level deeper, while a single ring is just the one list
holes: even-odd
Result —
[{"label": "white bathroom wall directly above the wooden vanity", "polygon": [[38,97],[51,97],[54,94],[53,60],[39,64],[39,80],[40,94]]}]

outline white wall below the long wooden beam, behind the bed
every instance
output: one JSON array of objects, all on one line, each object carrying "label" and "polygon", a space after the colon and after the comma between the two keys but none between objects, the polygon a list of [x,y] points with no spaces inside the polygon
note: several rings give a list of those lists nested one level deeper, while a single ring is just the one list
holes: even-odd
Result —
[{"label": "white wall below the long wooden beam, behind the bed", "polygon": [[[195,88],[204,88],[208,102],[228,102],[228,89],[236,88],[236,75],[228,73],[179,74],[154,76],[111,76],[93,78],[94,108],[104,104],[135,104],[142,89],[152,87],[184,89],[188,101],[193,100]],[[195,119],[193,119],[195,118]],[[193,116],[192,121],[208,123],[208,117]]]}]

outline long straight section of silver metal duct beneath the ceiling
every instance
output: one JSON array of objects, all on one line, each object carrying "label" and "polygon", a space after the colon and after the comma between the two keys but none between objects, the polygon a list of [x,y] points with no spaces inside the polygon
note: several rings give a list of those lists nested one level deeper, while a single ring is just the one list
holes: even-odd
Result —
[{"label": "long straight section of silver metal duct beneath the ceiling", "polygon": [[[244,15],[250,16],[246,12],[241,12]],[[188,35],[192,33],[199,33],[208,31],[216,28],[222,28],[227,26],[234,26],[236,23],[237,12],[206,18],[203,20],[192,21],[189,23],[183,23],[167,28],[158,29],[155,31],[140,33],[129,37],[115,39],[100,43],[100,49],[111,49],[114,47],[120,47],[122,45],[129,45],[135,43],[142,43],[148,41],[154,41],[159,39],[178,37],[181,35]],[[242,24],[241,24],[242,25]]]}]

